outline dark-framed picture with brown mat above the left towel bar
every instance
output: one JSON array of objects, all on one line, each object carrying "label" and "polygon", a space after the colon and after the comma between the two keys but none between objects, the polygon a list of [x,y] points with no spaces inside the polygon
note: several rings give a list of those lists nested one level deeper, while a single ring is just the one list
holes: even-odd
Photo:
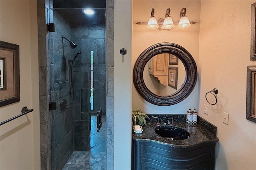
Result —
[{"label": "dark-framed picture with brown mat above the left towel bar", "polygon": [[20,47],[0,41],[0,107],[20,101]]}]

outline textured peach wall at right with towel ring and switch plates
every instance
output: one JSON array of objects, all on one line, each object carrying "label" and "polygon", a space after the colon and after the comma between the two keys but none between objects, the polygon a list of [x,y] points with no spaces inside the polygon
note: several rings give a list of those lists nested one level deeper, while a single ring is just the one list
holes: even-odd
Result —
[{"label": "textured peach wall at right with towel ring and switch plates", "polygon": [[[256,169],[256,123],[246,120],[246,66],[256,64],[250,61],[254,2],[201,1],[198,114],[217,126],[216,170]],[[214,106],[205,99],[213,88],[219,92]],[[229,113],[228,125],[222,112]]]}]

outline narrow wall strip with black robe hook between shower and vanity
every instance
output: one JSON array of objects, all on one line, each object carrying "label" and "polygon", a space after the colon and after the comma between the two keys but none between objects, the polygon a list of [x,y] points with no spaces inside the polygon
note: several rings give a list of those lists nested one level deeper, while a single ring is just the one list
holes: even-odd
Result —
[{"label": "narrow wall strip with black robe hook between shower and vanity", "polygon": [[[114,170],[130,170],[132,1],[114,3]],[[124,56],[120,54],[122,48],[127,50]]]}]

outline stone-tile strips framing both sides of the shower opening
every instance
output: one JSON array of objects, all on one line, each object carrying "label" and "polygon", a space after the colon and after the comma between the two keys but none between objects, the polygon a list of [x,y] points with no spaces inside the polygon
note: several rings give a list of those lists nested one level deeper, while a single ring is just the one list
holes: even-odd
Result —
[{"label": "stone-tile strips framing both sides of the shower opening", "polygon": [[[50,36],[53,1],[37,0],[41,170],[52,170]],[[106,0],[106,170],[114,170],[114,0]]]}]

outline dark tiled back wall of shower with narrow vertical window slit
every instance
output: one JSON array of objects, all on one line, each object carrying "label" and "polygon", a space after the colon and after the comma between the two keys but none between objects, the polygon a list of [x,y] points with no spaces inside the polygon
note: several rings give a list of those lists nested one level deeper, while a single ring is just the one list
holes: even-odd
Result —
[{"label": "dark tiled back wall of shower with narrow vertical window slit", "polygon": [[[99,108],[106,112],[106,54],[105,24],[72,24],[72,41],[78,46],[73,56],[81,52],[73,64],[75,100],[72,102],[74,116],[74,150],[86,151],[90,137],[90,114]],[[93,51],[93,110],[91,110],[91,51]]]}]

